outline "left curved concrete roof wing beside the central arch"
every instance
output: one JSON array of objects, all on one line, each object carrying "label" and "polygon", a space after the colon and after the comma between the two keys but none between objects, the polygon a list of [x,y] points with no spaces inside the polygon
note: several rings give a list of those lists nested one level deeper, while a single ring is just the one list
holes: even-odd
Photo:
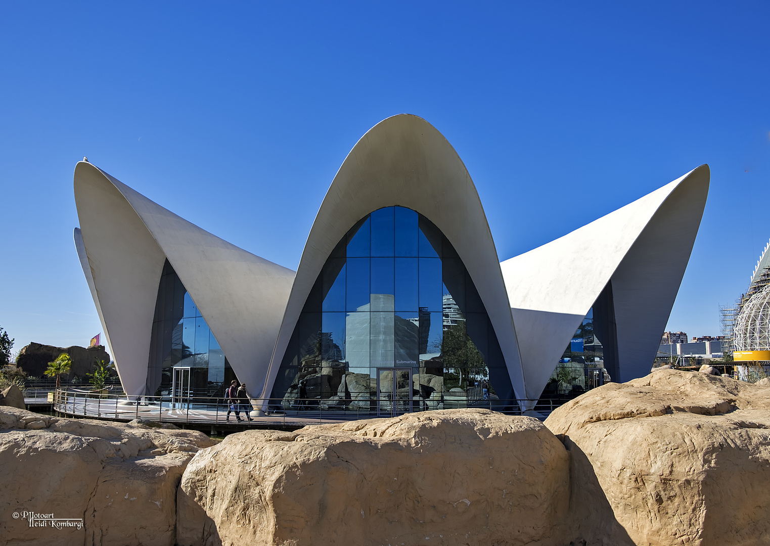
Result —
[{"label": "left curved concrete roof wing beside the central arch", "polygon": [[166,258],[239,380],[261,388],[294,272],[189,223],[89,162],[75,166],[74,178],[94,301],[126,393],[145,394]]}]

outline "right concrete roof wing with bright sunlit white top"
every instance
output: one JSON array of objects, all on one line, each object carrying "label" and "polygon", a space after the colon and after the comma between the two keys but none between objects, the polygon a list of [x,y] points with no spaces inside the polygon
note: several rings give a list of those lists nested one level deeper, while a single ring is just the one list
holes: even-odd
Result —
[{"label": "right concrete roof wing with bright sunlit white top", "polygon": [[621,377],[649,370],[685,274],[708,195],[708,166],[500,264],[521,350],[527,398],[611,282]]}]

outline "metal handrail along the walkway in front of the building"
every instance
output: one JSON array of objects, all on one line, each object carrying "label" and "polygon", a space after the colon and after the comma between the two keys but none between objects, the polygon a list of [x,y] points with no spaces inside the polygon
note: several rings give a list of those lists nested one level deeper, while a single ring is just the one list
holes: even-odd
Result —
[{"label": "metal handrail along the walkway in front of the building", "polygon": [[[559,400],[500,400],[490,396],[487,400],[456,399],[425,400],[420,397],[404,400],[377,400],[374,397],[358,398],[356,395],[369,392],[352,393],[350,399],[334,400],[323,398],[261,398],[251,399],[246,407],[233,404],[227,398],[213,397],[171,397],[142,396],[129,397],[125,394],[105,394],[101,390],[86,391],[72,387],[55,390],[53,409],[58,414],[77,417],[100,417],[114,420],[133,420],[138,418],[158,422],[184,424],[211,424],[212,428],[220,424],[235,424],[230,420],[235,414],[245,414],[243,425],[265,424],[310,424],[313,422],[333,422],[364,418],[392,417],[405,413],[417,413],[437,409],[480,407],[501,414],[522,415],[522,408],[532,407],[538,414],[551,414],[561,405]],[[237,414],[236,414],[237,412]],[[252,415],[253,414],[253,415]],[[254,417],[254,420],[249,420]]]}]

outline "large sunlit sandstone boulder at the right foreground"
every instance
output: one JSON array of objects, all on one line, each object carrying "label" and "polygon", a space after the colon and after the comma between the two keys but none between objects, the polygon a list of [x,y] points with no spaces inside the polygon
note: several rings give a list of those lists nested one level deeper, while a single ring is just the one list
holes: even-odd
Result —
[{"label": "large sunlit sandstone boulder at the right foreground", "polygon": [[678,370],[590,390],[545,421],[588,544],[768,544],[770,387]]}]

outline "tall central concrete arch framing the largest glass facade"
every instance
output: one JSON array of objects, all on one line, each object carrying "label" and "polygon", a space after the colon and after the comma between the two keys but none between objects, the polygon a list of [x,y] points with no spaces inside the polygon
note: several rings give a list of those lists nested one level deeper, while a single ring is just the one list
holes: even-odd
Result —
[{"label": "tall central concrete arch framing the largest glass facade", "polygon": [[447,139],[424,119],[407,114],[370,129],[336,173],[310,229],[261,397],[273,389],[296,321],[334,246],[367,214],[396,205],[430,219],[457,250],[497,333],[514,391],[523,397],[511,310],[476,186]]}]

